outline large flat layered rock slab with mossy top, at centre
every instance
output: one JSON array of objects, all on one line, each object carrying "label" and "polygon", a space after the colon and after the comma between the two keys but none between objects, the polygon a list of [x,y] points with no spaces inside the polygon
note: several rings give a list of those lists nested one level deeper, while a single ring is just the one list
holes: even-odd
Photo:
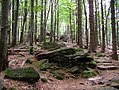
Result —
[{"label": "large flat layered rock slab with mossy top, at centre", "polygon": [[49,59],[49,62],[55,63],[68,63],[73,65],[79,65],[81,62],[91,62],[92,57],[89,57],[82,49],[76,48],[62,48],[54,51],[49,51],[36,55],[38,60]]}]

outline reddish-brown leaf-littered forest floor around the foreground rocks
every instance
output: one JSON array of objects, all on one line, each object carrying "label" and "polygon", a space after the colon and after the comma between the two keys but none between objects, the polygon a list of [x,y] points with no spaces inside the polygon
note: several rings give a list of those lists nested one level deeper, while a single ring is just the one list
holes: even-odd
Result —
[{"label": "reddish-brown leaf-littered forest floor around the foreground rocks", "polygon": [[[25,46],[20,46],[12,49],[26,50],[27,48]],[[36,59],[33,55],[29,55],[29,52],[25,50],[24,52],[15,52],[9,55],[9,67],[18,68],[31,66],[30,64],[25,64],[25,60],[27,60],[28,58],[33,58],[35,61]],[[98,49],[98,52],[99,51],[100,48]],[[94,58],[98,62],[98,65],[119,66],[119,61],[111,59],[111,49],[109,48],[102,56],[97,57],[94,55]],[[2,72],[0,75],[4,77],[4,72]],[[39,80],[35,84],[29,84],[27,82],[4,79],[4,86],[6,88],[15,87],[17,88],[17,90],[103,90],[100,89],[100,87],[108,87],[109,81],[112,78],[119,78],[119,68],[113,70],[100,70],[100,74],[92,78],[70,76],[68,78],[64,78],[64,80],[57,80],[53,77],[48,76],[47,73],[45,74],[45,76],[44,74],[40,73],[40,76],[46,77],[48,79],[48,82],[42,82],[41,80]]]}]

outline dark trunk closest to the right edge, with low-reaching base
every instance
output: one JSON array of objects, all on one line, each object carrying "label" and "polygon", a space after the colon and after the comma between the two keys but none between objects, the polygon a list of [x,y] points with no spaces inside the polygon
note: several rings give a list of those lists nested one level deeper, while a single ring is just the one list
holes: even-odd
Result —
[{"label": "dark trunk closest to the right edge, with low-reaching base", "polygon": [[111,0],[111,25],[112,25],[112,59],[118,60],[117,43],[116,43],[116,28],[115,28],[115,0]]}]

